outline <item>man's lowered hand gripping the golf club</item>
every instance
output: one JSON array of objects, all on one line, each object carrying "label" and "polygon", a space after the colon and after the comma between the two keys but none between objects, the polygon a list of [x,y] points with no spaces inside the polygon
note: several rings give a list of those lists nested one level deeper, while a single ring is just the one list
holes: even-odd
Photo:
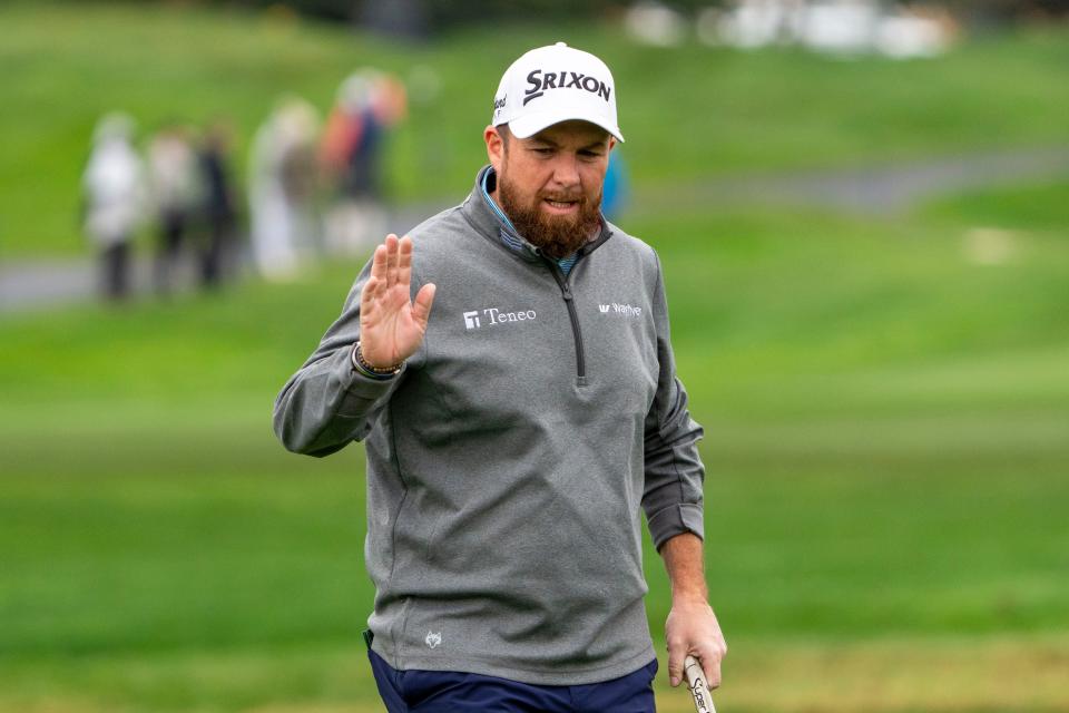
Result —
[{"label": "man's lowered hand gripping the golf club", "polygon": [[683,681],[683,662],[687,655],[700,662],[709,688],[720,685],[720,661],[727,654],[727,642],[708,602],[675,599],[665,623],[665,639],[668,681],[673,686]]}]

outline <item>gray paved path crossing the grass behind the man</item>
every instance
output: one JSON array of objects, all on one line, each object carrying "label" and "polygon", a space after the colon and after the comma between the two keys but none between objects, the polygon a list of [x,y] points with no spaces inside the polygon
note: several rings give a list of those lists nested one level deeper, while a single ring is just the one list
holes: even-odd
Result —
[{"label": "gray paved path crossing the grass behind the man", "polygon": [[[636,212],[640,212],[648,209],[644,206],[657,206],[661,211],[747,203],[893,215],[940,195],[1058,179],[1069,180],[1069,146],[845,168],[720,176],[680,186],[636,191],[634,205]],[[451,204],[443,201],[395,209],[388,219],[389,229],[403,232],[448,205]],[[136,293],[149,291],[150,273],[147,256],[135,261]],[[0,313],[95,300],[96,287],[95,264],[85,256],[0,261]]]}]

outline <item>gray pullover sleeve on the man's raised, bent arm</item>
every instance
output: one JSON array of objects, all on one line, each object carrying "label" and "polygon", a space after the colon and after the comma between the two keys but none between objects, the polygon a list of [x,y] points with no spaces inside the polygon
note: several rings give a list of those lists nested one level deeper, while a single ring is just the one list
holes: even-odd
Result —
[{"label": "gray pullover sleeve on the man's raised, bent arm", "polygon": [[363,440],[404,380],[408,367],[393,378],[373,379],[352,365],[353,345],[360,339],[360,293],[370,274],[369,262],[341,316],[275,399],[275,434],[287,450],[323,457]]}]

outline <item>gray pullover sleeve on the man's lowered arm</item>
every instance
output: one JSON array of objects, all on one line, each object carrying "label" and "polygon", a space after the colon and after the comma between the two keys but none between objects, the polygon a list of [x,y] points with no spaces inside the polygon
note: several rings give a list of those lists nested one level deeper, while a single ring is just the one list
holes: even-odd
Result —
[{"label": "gray pullover sleeve on the man's lowered arm", "polygon": [[690,418],[687,392],[676,377],[659,260],[653,306],[660,371],[657,393],[646,414],[643,510],[654,545],[660,549],[665,540],[683,533],[694,533],[704,538],[705,467],[697,446],[703,430]]}]

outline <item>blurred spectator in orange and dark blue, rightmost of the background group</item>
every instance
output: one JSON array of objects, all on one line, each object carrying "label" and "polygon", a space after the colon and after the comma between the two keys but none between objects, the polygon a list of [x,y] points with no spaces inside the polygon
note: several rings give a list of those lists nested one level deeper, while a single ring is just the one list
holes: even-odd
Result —
[{"label": "blurred spectator in orange and dark blue, rightmost of the background group", "polygon": [[404,86],[377,70],[355,71],[339,88],[320,147],[320,160],[337,193],[326,221],[332,253],[360,253],[384,234],[382,146],[405,111]]}]

